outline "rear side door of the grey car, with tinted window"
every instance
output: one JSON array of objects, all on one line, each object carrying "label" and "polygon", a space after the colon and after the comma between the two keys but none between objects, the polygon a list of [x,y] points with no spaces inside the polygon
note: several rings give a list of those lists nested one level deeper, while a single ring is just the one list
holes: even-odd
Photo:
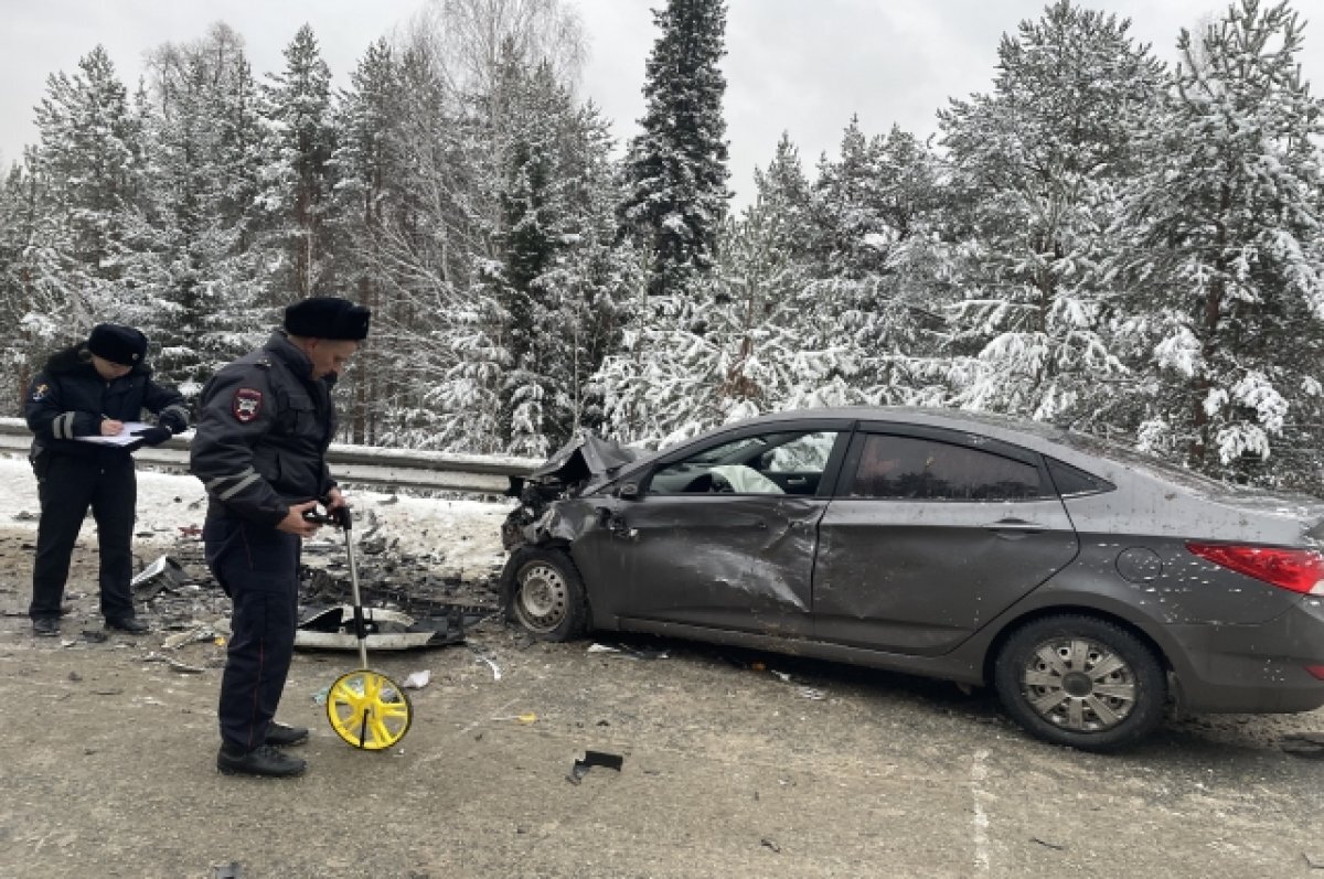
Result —
[{"label": "rear side door of the grey car, with tinted window", "polygon": [[1061,571],[1078,540],[1041,455],[863,424],[818,527],[814,634],[945,653]]}]

